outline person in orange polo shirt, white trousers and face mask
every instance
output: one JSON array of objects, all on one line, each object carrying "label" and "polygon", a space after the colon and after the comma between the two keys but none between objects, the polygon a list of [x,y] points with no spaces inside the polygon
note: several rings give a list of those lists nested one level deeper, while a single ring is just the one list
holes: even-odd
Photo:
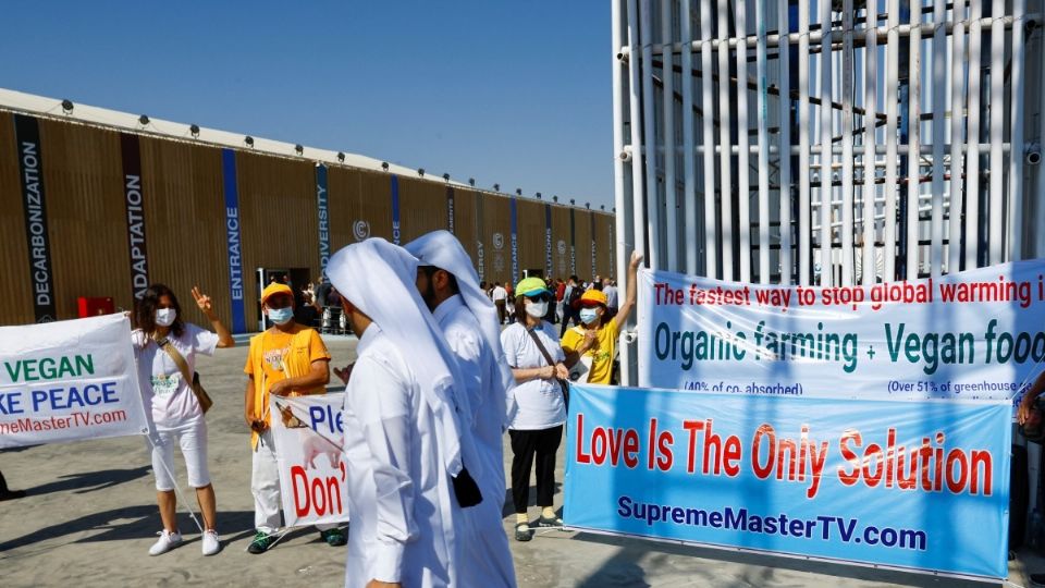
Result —
[{"label": "person in orange polo shirt, white trousers and face mask", "polygon": [[[254,448],[250,490],[254,492],[254,526],[257,534],[247,551],[265,553],[276,541],[280,528],[280,476],[276,449],[269,429],[269,395],[302,396],[325,393],[330,381],[330,353],[315,329],[294,321],[294,293],[273,282],[261,293],[261,306],[272,327],[250,338],[244,371],[247,389],[244,418],[250,427]],[[318,526],[333,547],[344,546],[344,532],[335,525]]]}]

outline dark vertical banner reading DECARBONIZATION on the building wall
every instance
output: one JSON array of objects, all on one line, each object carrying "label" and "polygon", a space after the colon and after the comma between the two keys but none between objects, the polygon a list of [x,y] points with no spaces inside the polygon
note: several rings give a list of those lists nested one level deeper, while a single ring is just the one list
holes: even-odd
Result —
[{"label": "dark vertical banner reading DECARBONIZATION on the building wall", "polygon": [[22,176],[22,205],[25,209],[26,249],[29,252],[29,284],[37,322],[54,320],[54,280],[51,242],[47,231],[44,197],[44,155],[40,126],[33,117],[14,115],[14,136]]}]

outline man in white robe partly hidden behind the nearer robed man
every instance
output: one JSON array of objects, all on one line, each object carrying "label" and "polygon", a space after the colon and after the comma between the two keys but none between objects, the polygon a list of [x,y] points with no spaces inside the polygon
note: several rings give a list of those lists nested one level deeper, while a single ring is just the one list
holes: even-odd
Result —
[{"label": "man in white robe partly hidden behind the nearer robed man", "polygon": [[464,510],[469,548],[460,566],[460,585],[514,587],[515,568],[502,512],[502,440],[507,422],[507,394],[514,379],[501,350],[497,310],[479,287],[479,278],[465,248],[448,231],[429,233],[405,247],[421,264],[417,272],[421,298],[457,357],[485,473],[478,480],[485,500],[475,509]]}]

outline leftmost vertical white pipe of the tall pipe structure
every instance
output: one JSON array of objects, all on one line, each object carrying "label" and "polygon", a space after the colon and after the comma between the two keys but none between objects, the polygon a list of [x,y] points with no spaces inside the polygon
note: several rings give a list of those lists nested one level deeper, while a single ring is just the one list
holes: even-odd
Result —
[{"label": "leftmost vertical white pipe of the tall pipe structure", "polygon": [[[613,51],[610,53],[610,59],[612,61],[612,72],[613,72],[613,95],[617,97],[614,100],[613,105],[613,201],[614,207],[616,208],[616,215],[614,216],[614,224],[616,230],[616,247],[617,247],[617,258],[615,260],[617,265],[617,275],[622,280],[627,279],[627,254],[630,249],[628,247],[627,241],[627,220],[628,215],[628,200],[625,196],[625,174],[624,174],[624,109],[626,103],[624,100],[619,99],[623,96],[623,78],[624,78],[624,63],[620,59],[617,58],[617,52],[620,50],[622,46],[622,35],[620,28],[623,26],[623,21],[620,20],[620,3],[623,0],[613,0],[610,2],[610,20],[613,23],[612,30],[612,44]],[[620,253],[625,252],[625,253]],[[627,286],[625,286],[627,287]],[[634,384],[630,378],[631,376],[631,362],[630,358],[630,344],[628,343],[627,338],[622,336],[618,342],[620,350],[620,383],[625,385]]]}]

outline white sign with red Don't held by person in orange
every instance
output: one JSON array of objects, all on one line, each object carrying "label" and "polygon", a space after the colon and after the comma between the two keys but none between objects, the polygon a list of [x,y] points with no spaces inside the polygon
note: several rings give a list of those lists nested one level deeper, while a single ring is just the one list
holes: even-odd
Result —
[{"label": "white sign with red Don't held by person in orange", "polygon": [[344,392],[271,396],[269,414],[287,527],[348,520],[341,407]]}]

